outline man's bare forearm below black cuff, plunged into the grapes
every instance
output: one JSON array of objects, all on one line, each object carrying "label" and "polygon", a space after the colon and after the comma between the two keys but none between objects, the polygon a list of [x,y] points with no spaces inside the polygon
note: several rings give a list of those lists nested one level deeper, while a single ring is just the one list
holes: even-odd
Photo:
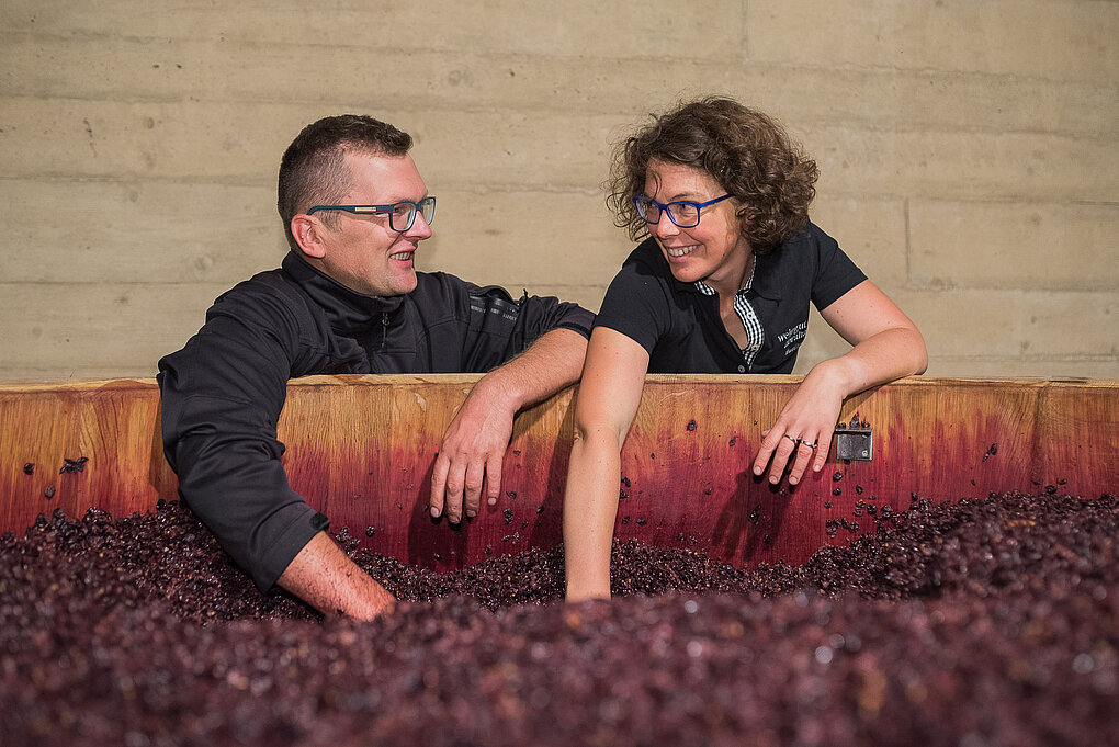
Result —
[{"label": "man's bare forearm below black cuff, plunged into the grapes", "polygon": [[395,597],[358,568],[326,532],[311,538],[278,583],[325,615],[373,620],[396,603]]}]

